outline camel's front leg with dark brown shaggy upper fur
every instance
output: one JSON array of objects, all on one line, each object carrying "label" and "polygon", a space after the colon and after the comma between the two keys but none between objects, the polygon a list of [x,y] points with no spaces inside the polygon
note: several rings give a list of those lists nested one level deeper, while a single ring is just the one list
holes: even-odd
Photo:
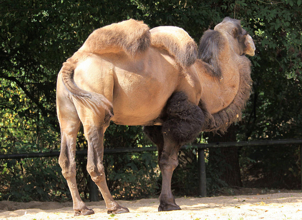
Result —
[{"label": "camel's front leg with dark brown shaggy upper fur", "polygon": [[162,126],[146,126],[144,132],[158,146],[159,169],[162,172],[162,191],[159,211],[181,209],[171,190],[171,178],[178,165],[180,147],[195,138],[204,123],[202,110],[190,103],[187,96],[178,92],[171,96],[166,106],[166,119]]}]

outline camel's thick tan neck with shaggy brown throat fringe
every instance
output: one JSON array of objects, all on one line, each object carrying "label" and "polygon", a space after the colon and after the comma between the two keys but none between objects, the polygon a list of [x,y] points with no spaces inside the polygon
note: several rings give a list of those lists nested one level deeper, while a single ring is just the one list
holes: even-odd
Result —
[{"label": "camel's thick tan neck with shaggy brown throat fringe", "polygon": [[201,102],[215,122],[208,131],[225,130],[230,123],[240,119],[251,91],[249,59],[224,51],[219,57],[221,77],[213,76],[208,64],[202,60],[194,64],[201,79]]}]

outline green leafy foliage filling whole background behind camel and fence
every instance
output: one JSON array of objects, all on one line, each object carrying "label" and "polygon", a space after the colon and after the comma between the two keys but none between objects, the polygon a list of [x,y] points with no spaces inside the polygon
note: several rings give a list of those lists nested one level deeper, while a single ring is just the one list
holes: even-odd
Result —
[{"label": "green leafy foliage filling whole background behind camel and fence", "polygon": [[[128,18],[144,20],[150,28],[182,27],[196,42],[223,17],[242,20],[257,50],[255,57],[251,57],[253,93],[239,124],[237,140],[301,136],[300,0],[129,0],[123,4],[116,0],[4,0],[0,6],[1,154],[59,149],[55,86],[62,63],[94,29]],[[78,143],[77,149],[87,147],[82,131]],[[140,127],[111,124],[104,144],[105,147],[140,147],[150,142]],[[263,149],[242,149],[241,158],[257,161],[254,164],[259,166],[271,166],[268,174],[278,168],[280,176],[285,173],[299,178],[301,172],[295,163],[297,150],[288,150],[286,146],[273,152]],[[180,161],[172,187],[179,195],[194,194],[197,186],[194,151],[184,151]],[[244,161],[241,160],[242,166],[248,168]],[[145,197],[158,192],[160,176],[155,163],[155,153],[105,155],[108,185],[115,197]],[[77,164],[79,191],[87,199],[85,158],[77,158]],[[28,201],[69,197],[56,158],[2,160],[0,166],[0,199]],[[259,166],[255,166],[255,170],[259,170]],[[189,172],[192,169],[194,171]],[[208,164],[208,190],[216,191],[223,184],[218,182],[219,172]]]}]

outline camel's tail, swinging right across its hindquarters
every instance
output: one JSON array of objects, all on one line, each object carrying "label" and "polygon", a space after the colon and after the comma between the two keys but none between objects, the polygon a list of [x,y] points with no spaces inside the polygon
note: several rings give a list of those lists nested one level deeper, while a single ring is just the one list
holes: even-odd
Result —
[{"label": "camel's tail, swinging right across its hindquarters", "polygon": [[79,88],[76,85],[73,79],[75,68],[76,61],[72,58],[67,59],[66,62],[63,63],[63,67],[61,68],[60,72],[62,73],[62,81],[66,89],[73,95],[76,101],[88,107],[96,114],[98,114],[103,108],[108,112],[110,116],[113,116],[112,103],[104,95],[85,91],[84,89]]}]

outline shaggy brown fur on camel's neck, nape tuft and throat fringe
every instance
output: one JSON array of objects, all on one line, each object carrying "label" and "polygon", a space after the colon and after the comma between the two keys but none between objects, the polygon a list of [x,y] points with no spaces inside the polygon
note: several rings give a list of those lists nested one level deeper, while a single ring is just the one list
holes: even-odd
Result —
[{"label": "shaggy brown fur on camel's neck, nape tuft and throat fringe", "polygon": [[[236,121],[237,119],[241,119],[241,111],[246,105],[246,101],[249,99],[251,93],[251,62],[247,57],[239,56],[236,54],[229,44],[227,44],[228,39],[218,31],[208,30],[205,32],[204,36],[200,40],[200,46],[198,51],[198,56],[207,68],[207,74],[210,74],[216,78],[217,82],[219,83],[219,79],[223,78],[223,74],[228,73],[227,71],[223,71],[220,67],[220,59],[223,60],[227,53],[227,57],[229,57],[228,62],[232,62],[237,66],[234,68],[238,72],[228,73],[228,74],[239,74],[239,88],[238,91],[233,99],[233,101],[222,110],[210,114],[206,109],[206,104],[202,101],[199,104],[199,107],[204,111],[205,116],[208,118],[207,126],[204,131],[222,131],[225,132],[226,129],[230,126],[231,123]],[[222,46],[223,45],[223,46]],[[221,54],[224,53],[222,56]],[[226,73],[223,73],[226,72]]]}]

